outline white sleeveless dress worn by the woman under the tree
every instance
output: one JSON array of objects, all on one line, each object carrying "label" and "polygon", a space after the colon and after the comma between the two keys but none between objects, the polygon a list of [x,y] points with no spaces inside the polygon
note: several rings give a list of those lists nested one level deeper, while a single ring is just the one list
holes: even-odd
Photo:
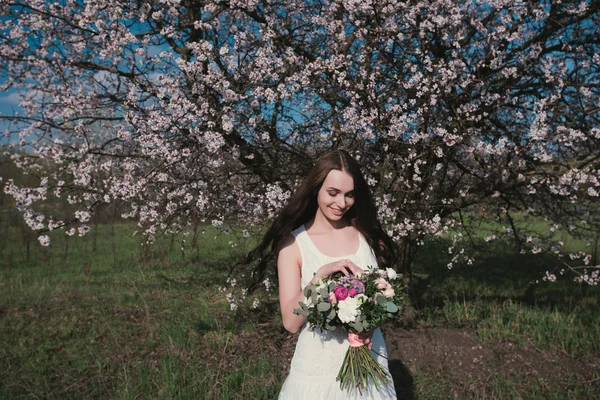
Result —
[{"label": "white sleeveless dress worn by the woman under the tree", "polygon": [[[317,270],[332,261],[340,259],[352,260],[363,270],[377,265],[377,259],[365,238],[359,233],[359,247],[355,254],[344,257],[329,257],[321,253],[312,242],[304,225],[292,232],[300,247],[302,255],[302,287],[306,287]],[[372,337],[371,355],[388,369],[387,349],[380,329],[376,329]],[[396,399],[393,383],[380,386],[379,391],[371,382],[367,390],[348,392],[340,389],[336,381],[342,361],[348,350],[348,336],[342,331],[313,331],[304,325],[298,337],[296,351],[292,358],[290,374],[283,383],[280,400],[347,400],[347,399]],[[380,357],[375,352],[384,357]]]}]

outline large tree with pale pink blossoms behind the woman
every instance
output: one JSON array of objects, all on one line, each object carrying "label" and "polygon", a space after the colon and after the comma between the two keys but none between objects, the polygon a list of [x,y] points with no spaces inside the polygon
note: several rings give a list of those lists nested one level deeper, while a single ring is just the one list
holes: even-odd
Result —
[{"label": "large tree with pale pink blossoms behind the woman", "polygon": [[[483,229],[597,284],[595,257],[553,233],[599,230],[599,4],[0,0],[1,86],[22,94],[2,118],[27,150],[14,161],[40,176],[4,191],[43,245],[115,201],[152,241],[265,221],[315,157],[345,148],[401,269],[436,235],[452,238],[449,267],[470,263],[463,242]],[[73,217],[42,215],[47,196]]]}]

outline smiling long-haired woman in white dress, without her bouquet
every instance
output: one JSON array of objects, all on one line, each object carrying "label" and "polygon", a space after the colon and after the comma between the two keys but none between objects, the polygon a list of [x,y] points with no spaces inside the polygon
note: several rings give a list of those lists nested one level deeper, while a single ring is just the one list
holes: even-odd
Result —
[{"label": "smiling long-haired woman in white dress, without her bouquet", "polygon": [[[265,250],[270,248],[269,254]],[[275,219],[253,256],[261,256],[259,272],[277,256],[279,302],[283,326],[296,333],[306,317],[294,314],[303,288],[334,272],[356,275],[374,267],[391,267],[393,244],[377,221],[375,204],[358,163],[345,151],[322,156]],[[379,329],[371,353],[387,368],[387,351]],[[393,384],[350,393],[336,376],[349,343],[341,331],[302,329],[290,374],[280,399],[395,399]]]}]

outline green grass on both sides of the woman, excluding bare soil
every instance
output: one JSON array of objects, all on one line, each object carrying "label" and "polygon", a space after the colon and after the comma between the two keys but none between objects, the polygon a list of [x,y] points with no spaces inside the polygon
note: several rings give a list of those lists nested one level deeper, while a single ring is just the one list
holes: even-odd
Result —
[{"label": "green grass on both sides of the woman, excluding bare soil", "polygon": [[[219,290],[249,243],[207,228],[194,250],[169,238],[144,248],[134,228],[99,226],[70,238],[66,257],[66,236],[56,233],[49,248],[31,244],[28,260],[23,235],[3,230],[0,398],[276,398],[293,351],[277,293],[234,313]],[[553,261],[515,255],[506,244],[481,243],[475,265],[449,271],[447,246],[429,241],[415,262],[419,329],[469,330],[485,346],[510,343],[565,360],[600,354],[598,288],[531,283]],[[459,385],[415,367],[406,372],[412,392],[400,398],[600,394],[597,374],[544,385],[495,362],[487,367],[496,372],[471,389],[468,379]]]}]

